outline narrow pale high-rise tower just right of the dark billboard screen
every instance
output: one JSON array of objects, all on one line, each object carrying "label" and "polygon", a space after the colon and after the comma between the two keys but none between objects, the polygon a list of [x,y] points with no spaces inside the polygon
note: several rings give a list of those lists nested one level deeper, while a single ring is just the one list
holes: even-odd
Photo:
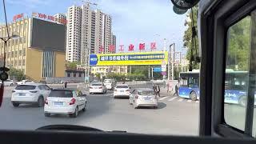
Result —
[{"label": "narrow pale high-rise tower just right of the dark billboard screen", "polygon": [[82,38],[82,8],[71,6],[67,12],[66,25],[66,60],[80,62]]}]

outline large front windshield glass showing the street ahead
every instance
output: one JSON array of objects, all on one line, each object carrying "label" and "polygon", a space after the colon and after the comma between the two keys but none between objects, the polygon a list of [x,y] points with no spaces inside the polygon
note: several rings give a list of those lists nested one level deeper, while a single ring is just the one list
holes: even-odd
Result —
[{"label": "large front windshield glass showing the street ahead", "polygon": [[[190,57],[201,53],[191,31],[194,22],[198,32],[198,6],[192,21],[191,10],[176,14],[172,1],[5,0],[7,18],[1,1],[0,67],[10,69],[12,82],[3,85],[0,130],[66,124],[198,135],[199,79],[178,83],[179,74],[190,70]],[[241,34],[250,38],[248,31]],[[178,94],[193,82],[195,94]]]}]

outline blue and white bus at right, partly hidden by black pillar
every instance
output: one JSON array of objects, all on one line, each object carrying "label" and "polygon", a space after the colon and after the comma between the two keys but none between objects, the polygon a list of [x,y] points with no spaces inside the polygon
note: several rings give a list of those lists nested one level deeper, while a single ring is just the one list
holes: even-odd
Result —
[{"label": "blue and white bus at right, partly hidden by black pillar", "polygon": [[[246,106],[247,71],[234,71],[227,69],[225,78],[225,103],[234,103]],[[180,73],[178,96],[199,99],[199,70]],[[256,94],[255,94],[256,96]]]}]

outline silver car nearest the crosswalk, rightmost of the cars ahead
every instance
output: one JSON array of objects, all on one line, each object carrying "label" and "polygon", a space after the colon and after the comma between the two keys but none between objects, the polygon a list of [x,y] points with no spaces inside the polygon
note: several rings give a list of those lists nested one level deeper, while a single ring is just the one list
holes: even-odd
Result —
[{"label": "silver car nearest the crosswalk, rightmost of the cars ahead", "polygon": [[153,106],[154,109],[158,108],[158,96],[150,88],[133,90],[130,94],[129,102],[134,105],[134,109],[137,109],[139,106]]}]

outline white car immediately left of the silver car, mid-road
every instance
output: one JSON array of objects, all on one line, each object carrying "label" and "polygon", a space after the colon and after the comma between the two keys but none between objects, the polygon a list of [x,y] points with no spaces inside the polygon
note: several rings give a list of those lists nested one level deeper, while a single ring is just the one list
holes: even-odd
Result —
[{"label": "white car immediately left of the silver car, mid-road", "polygon": [[114,88],[114,98],[130,96],[130,88],[126,84],[119,84]]}]

